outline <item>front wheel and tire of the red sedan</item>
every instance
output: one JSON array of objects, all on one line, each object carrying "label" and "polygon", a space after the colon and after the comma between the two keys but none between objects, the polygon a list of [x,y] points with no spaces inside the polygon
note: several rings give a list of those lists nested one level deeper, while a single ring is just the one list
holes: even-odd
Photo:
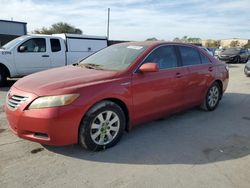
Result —
[{"label": "front wheel and tire of the red sedan", "polygon": [[121,139],[125,125],[122,108],[112,101],[101,101],[83,118],[79,129],[79,144],[91,151],[110,148]]}]

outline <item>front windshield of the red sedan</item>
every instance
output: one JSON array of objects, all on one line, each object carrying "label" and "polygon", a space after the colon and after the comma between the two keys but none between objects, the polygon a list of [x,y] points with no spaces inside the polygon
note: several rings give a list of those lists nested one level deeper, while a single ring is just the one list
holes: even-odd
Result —
[{"label": "front windshield of the red sedan", "polygon": [[113,45],[82,60],[79,65],[92,69],[125,70],[146,48],[141,45]]}]

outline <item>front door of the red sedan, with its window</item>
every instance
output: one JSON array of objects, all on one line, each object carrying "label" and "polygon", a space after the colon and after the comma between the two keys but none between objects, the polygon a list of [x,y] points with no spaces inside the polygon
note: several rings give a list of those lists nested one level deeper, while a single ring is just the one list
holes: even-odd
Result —
[{"label": "front door of the red sedan, with its window", "polygon": [[156,48],[143,61],[148,62],[157,63],[160,70],[152,73],[137,71],[132,77],[134,118],[137,123],[178,111],[183,104],[187,68],[178,67],[175,46]]}]

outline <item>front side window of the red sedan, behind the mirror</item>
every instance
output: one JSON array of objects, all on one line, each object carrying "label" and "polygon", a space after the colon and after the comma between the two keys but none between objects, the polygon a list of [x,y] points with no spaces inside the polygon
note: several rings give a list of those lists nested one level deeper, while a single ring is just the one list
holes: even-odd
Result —
[{"label": "front side window of the red sedan, behind the mirror", "polygon": [[177,57],[174,46],[162,46],[154,50],[144,61],[157,63],[160,69],[177,67]]}]

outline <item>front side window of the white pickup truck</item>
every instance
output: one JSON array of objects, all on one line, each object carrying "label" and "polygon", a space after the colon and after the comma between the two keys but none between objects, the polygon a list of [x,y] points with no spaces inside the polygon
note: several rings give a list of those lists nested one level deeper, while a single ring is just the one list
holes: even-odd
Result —
[{"label": "front side window of the white pickup truck", "polygon": [[[22,47],[22,51],[20,50]],[[46,52],[46,41],[43,38],[29,39],[18,48],[19,52]]]}]

